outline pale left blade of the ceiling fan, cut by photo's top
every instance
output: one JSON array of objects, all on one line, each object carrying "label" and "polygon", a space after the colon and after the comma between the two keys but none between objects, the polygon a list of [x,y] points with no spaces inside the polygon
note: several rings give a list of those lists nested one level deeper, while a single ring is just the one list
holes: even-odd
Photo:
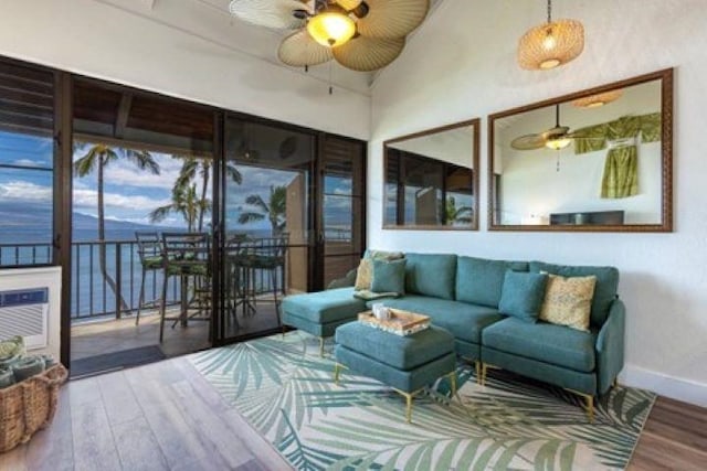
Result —
[{"label": "pale left blade of the ceiling fan, cut by photo's top", "polygon": [[295,30],[305,21],[293,15],[305,6],[297,0],[231,0],[229,11],[246,23],[275,30]]}]

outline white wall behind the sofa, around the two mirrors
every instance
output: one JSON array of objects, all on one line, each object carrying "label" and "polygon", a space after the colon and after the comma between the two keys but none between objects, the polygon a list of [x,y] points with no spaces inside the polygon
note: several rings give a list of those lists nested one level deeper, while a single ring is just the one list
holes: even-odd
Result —
[{"label": "white wall behind the sofa, around the two mirrors", "polygon": [[[369,147],[369,246],[614,265],[629,313],[622,379],[707,405],[705,2],[555,2],[556,18],[583,22],[584,53],[555,71],[521,71],[517,40],[544,20],[541,3],[445,0],[402,57],[380,74]],[[676,67],[674,233],[494,233],[486,217],[478,233],[381,229],[383,140],[671,66]],[[482,215],[488,203],[486,154],[482,139]]]}]

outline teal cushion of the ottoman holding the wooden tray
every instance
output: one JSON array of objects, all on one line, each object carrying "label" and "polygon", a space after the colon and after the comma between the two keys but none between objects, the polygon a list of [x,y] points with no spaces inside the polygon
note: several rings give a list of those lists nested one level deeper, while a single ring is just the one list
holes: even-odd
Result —
[{"label": "teal cushion of the ottoman holding the wooden tray", "polygon": [[452,334],[434,327],[414,335],[399,336],[360,322],[349,322],[336,330],[335,338],[337,345],[403,371],[454,352]]}]

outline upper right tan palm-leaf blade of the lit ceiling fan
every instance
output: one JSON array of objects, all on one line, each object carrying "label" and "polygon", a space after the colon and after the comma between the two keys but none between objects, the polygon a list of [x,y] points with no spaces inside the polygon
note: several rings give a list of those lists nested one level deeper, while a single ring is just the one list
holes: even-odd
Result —
[{"label": "upper right tan palm-leaf blade of the lit ceiling fan", "polygon": [[357,21],[368,38],[403,38],[424,21],[430,0],[366,0],[368,12]]}]

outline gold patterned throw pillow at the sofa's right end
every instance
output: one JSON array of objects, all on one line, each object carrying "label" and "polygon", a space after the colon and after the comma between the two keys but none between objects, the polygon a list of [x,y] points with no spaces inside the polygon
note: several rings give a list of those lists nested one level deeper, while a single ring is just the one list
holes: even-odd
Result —
[{"label": "gold patterned throw pillow at the sofa's right end", "polygon": [[597,277],[561,277],[548,274],[540,320],[589,331]]}]

